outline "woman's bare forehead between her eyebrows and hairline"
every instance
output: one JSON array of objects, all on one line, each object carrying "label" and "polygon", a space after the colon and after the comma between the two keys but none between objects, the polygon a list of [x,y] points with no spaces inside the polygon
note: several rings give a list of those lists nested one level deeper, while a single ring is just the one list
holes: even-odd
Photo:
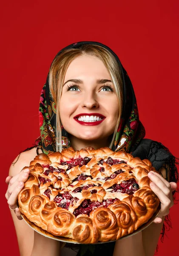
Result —
[{"label": "woman's bare forehead between her eyebrows and hairline", "polygon": [[75,58],[68,66],[65,74],[65,80],[95,77],[96,79],[110,79],[111,76],[105,67],[105,64],[96,56],[83,55]]}]

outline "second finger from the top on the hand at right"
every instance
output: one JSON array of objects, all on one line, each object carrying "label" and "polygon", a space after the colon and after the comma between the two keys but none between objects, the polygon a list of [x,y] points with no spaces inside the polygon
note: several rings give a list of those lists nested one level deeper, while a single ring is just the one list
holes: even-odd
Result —
[{"label": "second finger from the top on the hand at right", "polygon": [[169,208],[171,207],[173,201],[171,201],[155,183],[150,183],[150,187],[161,202],[160,214],[162,214],[163,216],[168,215]]}]

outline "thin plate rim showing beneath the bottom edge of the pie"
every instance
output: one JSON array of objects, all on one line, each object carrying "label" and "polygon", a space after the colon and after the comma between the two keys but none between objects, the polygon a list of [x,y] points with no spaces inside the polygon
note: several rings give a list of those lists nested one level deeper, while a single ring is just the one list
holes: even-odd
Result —
[{"label": "thin plate rim showing beneath the bottom edge of the pie", "polygon": [[[127,236],[123,236],[120,239],[125,239],[129,236],[134,236],[136,233],[139,233],[140,231],[144,230],[146,227],[148,227],[153,220],[157,217],[157,215],[160,212],[160,204],[158,206],[158,208],[156,209],[156,212],[153,214],[153,216],[148,220],[148,222],[142,224],[142,226],[140,226],[137,230],[135,230],[133,233],[128,234]],[[29,221],[28,218],[26,218],[26,216],[21,213],[22,218],[26,221],[26,223],[33,229],[35,230],[37,233],[40,233],[43,236],[46,236],[48,238],[54,239],[54,240],[58,240],[58,241],[62,241],[65,243],[72,243],[72,244],[80,244],[78,241],[74,240],[74,239],[70,239],[67,237],[62,237],[62,236],[54,236],[51,233],[48,233],[46,230],[43,230],[41,227],[38,227],[36,224],[34,224],[33,222]],[[114,242],[114,241],[107,241],[107,242],[97,242],[97,244],[104,244],[104,243],[108,243],[108,242]]]}]

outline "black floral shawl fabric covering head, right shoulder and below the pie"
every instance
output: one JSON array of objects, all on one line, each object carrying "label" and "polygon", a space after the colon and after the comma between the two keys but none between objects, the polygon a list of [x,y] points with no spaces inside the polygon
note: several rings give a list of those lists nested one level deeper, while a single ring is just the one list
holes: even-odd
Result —
[{"label": "black floral shawl fabric covering head, right shoulder and below the pie", "polygon": [[[84,44],[96,44],[102,46],[108,51],[110,51],[119,63],[120,70],[122,70],[122,82],[123,82],[123,106],[122,106],[122,119],[116,134],[115,143],[113,145],[113,150],[125,150],[133,154],[134,157],[140,157],[142,160],[148,158],[156,170],[159,170],[163,165],[170,167],[170,180],[169,182],[178,181],[178,172],[176,169],[176,158],[170,153],[168,148],[166,148],[161,143],[157,143],[152,140],[143,139],[145,137],[145,129],[142,123],[139,121],[139,114],[136,105],[136,98],[134,89],[132,87],[131,81],[126,73],[124,67],[122,67],[121,62],[117,55],[104,44],[98,42],[83,41],[75,44],[71,44],[68,47],[63,48],[57,55],[62,53],[65,49],[75,49],[79,48]],[[46,102],[46,103],[45,103]],[[55,125],[55,109],[53,99],[51,99],[49,93],[48,78],[46,84],[43,87],[41,100],[40,100],[40,131],[41,137],[36,140],[35,146],[41,148],[45,154],[55,151],[56,148],[56,125]],[[53,112],[54,111],[54,112]],[[53,114],[52,114],[53,113]],[[67,134],[64,129],[62,129],[63,141],[68,142]],[[126,141],[122,145],[120,142],[122,138]],[[64,143],[65,144],[65,143]],[[69,144],[66,143],[63,147],[68,148]],[[31,149],[31,148],[29,148]],[[27,150],[29,150],[27,149]],[[38,154],[38,150],[37,150]],[[167,169],[166,169],[167,172]],[[173,192],[174,194],[174,192]],[[162,239],[164,232],[171,227],[170,219],[167,216],[165,224],[162,230]],[[91,256],[99,255],[100,253],[104,255],[112,255],[114,250],[115,242],[109,242],[105,244],[98,245],[81,245],[78,255],[80,256]]]}]

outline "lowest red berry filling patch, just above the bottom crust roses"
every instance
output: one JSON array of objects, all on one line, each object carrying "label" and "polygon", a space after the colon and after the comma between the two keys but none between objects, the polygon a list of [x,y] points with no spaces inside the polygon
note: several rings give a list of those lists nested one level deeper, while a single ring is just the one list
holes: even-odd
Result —
[{"label": "lowest red berry filling patch, just above the bottom crust roses", "polygon": [[85,199],[82,204],[74,210],[74,215],[78,216],[79,214],[87,214],[88,216],[90,215],[90,212],[98,207],[108,207],[110,204],[115,203],[116,201],[118,201],[117,198],[115,199],[107,199],[107,200],[103,200],[101,203],[99,203],[98,201],[96,202],[91,202],[91,200],[89,199]]}]

